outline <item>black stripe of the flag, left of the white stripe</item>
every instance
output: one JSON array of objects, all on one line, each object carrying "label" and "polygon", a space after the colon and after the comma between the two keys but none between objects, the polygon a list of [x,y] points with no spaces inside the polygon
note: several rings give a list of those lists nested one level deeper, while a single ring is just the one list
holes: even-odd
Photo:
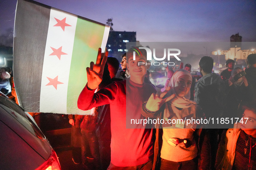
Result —
[{"label": "black stripe of the flag, left of the white stripe", "polygon": [[14,25],[13,75],[19,103],[27,111],[39,112],[49,16],[49,6],[18,0]]}]

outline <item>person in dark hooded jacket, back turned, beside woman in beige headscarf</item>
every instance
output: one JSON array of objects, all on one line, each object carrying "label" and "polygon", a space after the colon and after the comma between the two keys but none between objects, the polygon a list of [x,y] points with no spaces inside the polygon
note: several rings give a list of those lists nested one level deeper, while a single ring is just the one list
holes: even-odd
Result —
[{"label": "person in dark hooded jacket, back turned, beside woman in beige headscarf", "polygon": [[[206,119],[220,118],[224,112],[225,105],[225,84],[221,77],[214,72],[213,69],[213,58],[204,56],[199,61],[200,73],[203,76],[198,80],[194,89],[194,101],[202,108]],[[206,126],[207,132],[211,134],[210,145],[211,145],[211,168],[214,169],[215,157],[217,154],[218,147],[218,124],[209,123]]]}]

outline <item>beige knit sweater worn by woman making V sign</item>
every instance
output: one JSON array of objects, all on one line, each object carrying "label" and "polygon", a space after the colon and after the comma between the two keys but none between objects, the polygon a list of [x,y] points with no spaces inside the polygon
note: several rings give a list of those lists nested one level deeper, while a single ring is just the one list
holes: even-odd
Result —
[{"label": "beige knit sweater worn by woman making V sign", "polygon": [[[198,105],[193,105],[188,108],[184,108],[182,110],[178,110],[173,105],[166,104],[165,107],[165,117],[168,119],[184,119],[184,117],[193,117],[196,118],[196,111],[197,111]],[[169,115],[169,114],[174,115]],[[168,114],[168,115],[166,115]],[[168,160],[168,161],[174,161],[174,162],[181,162],[181,161],[189,161],[197,157],[198,155],[198,148],[196,145],[196,142],[194,140],[194,130],[190,129],[188,127],[185,127],[185,129],[180,129],[179,127],[176,127],[176,124],[172,124],[170,127],[165,127],[163,124],[163,136],[162,136],[162,150],[161,150],[161,158]],[[168,129],[165,129],[168,128]],[[169,144],[169,140],[172,138],[178,138],[178,139],[188,139],[192,142],[192,145],[190,147],[185,147],[185,144],[183,142],[179,143],[177,146],[172,146]],[[178,156],[177,156],[178,153]]]}]

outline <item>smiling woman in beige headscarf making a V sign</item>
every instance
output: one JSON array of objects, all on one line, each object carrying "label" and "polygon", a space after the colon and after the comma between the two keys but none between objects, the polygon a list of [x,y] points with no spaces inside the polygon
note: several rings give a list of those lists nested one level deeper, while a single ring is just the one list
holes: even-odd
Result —
[{"label": "smiling woman in beige headscarf making a V sign", "polygon": [[200,119],[201,108],[190,99],[192,76],[184,69],[177,70],[169,87],[160,96],[152,94],[143,104],[145,117],[164,120],[156,124],[153,169],[209,169],[210,151],[204,129],[178,119]]}]

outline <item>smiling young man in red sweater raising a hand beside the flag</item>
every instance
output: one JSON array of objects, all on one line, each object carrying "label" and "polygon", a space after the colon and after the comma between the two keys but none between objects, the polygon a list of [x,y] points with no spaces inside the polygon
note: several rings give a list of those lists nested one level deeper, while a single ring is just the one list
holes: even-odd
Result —
[{"label": "smiling young man in red sweater raising a hand beside the flag", "polygon": [[[133,47],[126,54],[130,78],[121,82],[113,82],[94,93],[102,81],[108,54],[106,50],[103,60],[100,61],[101,49],[99,48],[96,64],[91,62],[90,68],[86,69],[88,82],[78,98],[78,108],[81,110],[110,104],[112,136],[109,169],[152,169],[153,129],[126,129],[126,116],[133,119],[145,119],[140,113],[140,108],[143,102],[156,92],[152,85],[144,83],[144,77],[150,64],[146,65],[146,50],[138,48]],[[133,51],[138,50],[140,53],[136,53],[136,58],[133,60]],[[126,94],[129,96],[126,97]],[[131,120],[127,120],[127,122],[129,121]]]}]

